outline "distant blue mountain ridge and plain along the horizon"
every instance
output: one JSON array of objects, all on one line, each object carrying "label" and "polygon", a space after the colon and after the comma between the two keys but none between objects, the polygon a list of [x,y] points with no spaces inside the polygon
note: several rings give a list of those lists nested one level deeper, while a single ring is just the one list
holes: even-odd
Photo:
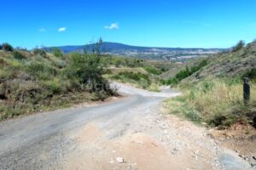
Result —
[{"label": "distant blue mountain ridge and plain along the horizon", "polygon": [[[81,46],[61,46],[63,53],[69,54],[73,52],[82,53],[87,51],[90,53],[95,47],[95,44],[81,45]],[[50,51],[50,48],[44,48]],[[138,47],[125,45],[116,42],[103,42],[102,54],[113,54],[128,57],[137,57],[141,59],[166,59],[166,60],[183,60],[195,57],[200,57],[206,54],[216,54],[223,52],[222,48],[154,48],[154,47]]]}]

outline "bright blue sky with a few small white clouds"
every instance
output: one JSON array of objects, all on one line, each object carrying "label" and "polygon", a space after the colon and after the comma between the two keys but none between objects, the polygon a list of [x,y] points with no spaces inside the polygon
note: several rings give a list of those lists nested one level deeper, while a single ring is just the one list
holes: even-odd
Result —
[{"label": "bright blue sky with a few small white clouds", "polygon": [[106,42],[229,48],[256,38],[255,0],[8,0],[0,43],[36,46]]}]

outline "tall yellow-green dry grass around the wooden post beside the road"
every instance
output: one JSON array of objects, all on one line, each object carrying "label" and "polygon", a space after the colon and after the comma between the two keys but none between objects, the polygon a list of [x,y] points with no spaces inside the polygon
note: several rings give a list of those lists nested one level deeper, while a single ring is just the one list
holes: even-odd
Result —
[{"label": "tall yellow-green dry grass around the wooden post beside the road", "polygon": [[[181,85],[183,96],[166,101],[167,107],[176,114],[195,122],[207,122],[210,126],[228,127],[242,120],[250,122],[251,106],[256,103],[256,86],[252,83],[251,103],[243,104],[242,82],[236,78],[207,78],[196,84]],[[173,105],[181,105],[180,110]],[[172,109],[173,107],[173,109]]]}]

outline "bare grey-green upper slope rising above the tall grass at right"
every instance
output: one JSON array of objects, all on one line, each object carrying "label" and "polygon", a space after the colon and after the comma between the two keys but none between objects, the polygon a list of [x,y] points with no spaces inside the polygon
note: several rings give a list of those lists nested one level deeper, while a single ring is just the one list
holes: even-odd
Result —
[{"label": "bare grey-green upper slope rising above the tall grass at right", "polygon": [[206,77],[241,77],[248,71],[252,71],[256,68],[256,42],[251,42],[238,51],[212,54],[203,59],[192,59],[184,65],[176,65],[161,77],[164,79],[175,77],[179,71],[199,65],[202,60],[206,60],[207,65],[184,78],[183,82],[203,80]]}]

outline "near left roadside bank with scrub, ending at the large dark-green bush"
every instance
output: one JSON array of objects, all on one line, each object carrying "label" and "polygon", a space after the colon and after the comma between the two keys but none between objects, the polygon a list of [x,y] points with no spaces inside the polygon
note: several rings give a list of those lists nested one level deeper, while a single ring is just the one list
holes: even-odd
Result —
[{"label": "near left roadside bank with scrub, ending at the large dark-green bush", "polygon": [[0,119],[115,94],[97,54],[54,54],[0,50]]}]

